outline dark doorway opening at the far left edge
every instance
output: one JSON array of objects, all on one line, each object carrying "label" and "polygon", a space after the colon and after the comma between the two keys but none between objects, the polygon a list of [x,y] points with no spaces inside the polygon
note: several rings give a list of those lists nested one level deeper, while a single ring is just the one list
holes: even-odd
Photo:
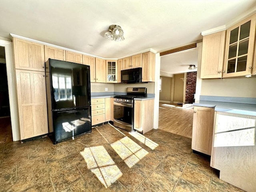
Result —
[{"label": "dark doorway opening at the far left edge", "polygon": [[0,144],[12,142],[5,49],[0,46]]}]

